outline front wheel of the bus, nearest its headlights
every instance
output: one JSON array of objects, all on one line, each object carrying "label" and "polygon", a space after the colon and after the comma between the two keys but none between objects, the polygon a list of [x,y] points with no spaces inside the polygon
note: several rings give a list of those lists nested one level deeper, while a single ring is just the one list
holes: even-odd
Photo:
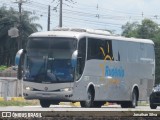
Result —
[{"label": "front wheel of the bus, nearest its headlights", "polygon": [[94,107],[94,94],[92,92],[92,89],[89,89],[87,92],[87,100],[80,102],[81,107],[85,108],[91,108]]}]

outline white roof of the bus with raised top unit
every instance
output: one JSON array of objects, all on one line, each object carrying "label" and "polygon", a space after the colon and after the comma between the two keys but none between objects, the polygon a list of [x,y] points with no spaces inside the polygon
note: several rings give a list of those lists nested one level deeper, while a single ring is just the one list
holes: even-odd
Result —
[{"label": "white roof of the bus with raised top unit", "polygon": [[91,37],[91,38],[154,44],[154,42],[150,39],[126,38],[123,36],[112,35],[110,32],[104,30],[79,29],[79,28],[78,29],[60,28],[60,29],[54,29],[53,31],[36,32],[31,34],[30,37],[72,37],[77,39],[80,39],[82,37]]}]

